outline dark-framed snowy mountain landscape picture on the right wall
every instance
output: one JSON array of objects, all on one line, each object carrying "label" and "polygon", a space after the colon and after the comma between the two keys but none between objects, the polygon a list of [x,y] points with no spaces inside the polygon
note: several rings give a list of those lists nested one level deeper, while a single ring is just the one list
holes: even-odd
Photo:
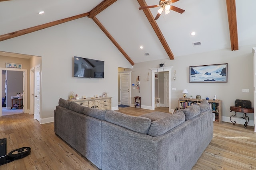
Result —
[{"label": "dark-framed snowy mountain landscape picture on the right wall", "polygon": [[228,63],[190,66],[189,82],[228,82]]}]

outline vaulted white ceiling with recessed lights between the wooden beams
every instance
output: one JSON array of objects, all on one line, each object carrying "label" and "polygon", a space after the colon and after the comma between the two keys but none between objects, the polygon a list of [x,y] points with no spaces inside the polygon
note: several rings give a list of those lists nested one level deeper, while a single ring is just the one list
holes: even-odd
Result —
[{"label": "vaulted white ceiling with recessed lights between the wooden beams", "polygon": [[[158,0],[145,0],[148,6]],[[0,35],[90,12],[102,0],[8,0],[0,2]],[[182,55],[230,49],[225,0],[180,0],[185,10],[171,11],[156,20],[174,58]],[[134,63],[169,58],[137,0],[117,0],[96,15]],[[236,0],[238,45],[256,44],[255,0]],[[159,8],[151,8],[156,16]],[[45,11],[38,15],[39,11]],[[89,18],[88,18],[89,19]],[[86,31],[86,30],[85,30]],[[196,32],[195,36],[190,35]],[[201,42],[194,46],[193,43]],[[143,46],[143,49],[140,49]],[[150,55],[146,56],[145,53]]]}]

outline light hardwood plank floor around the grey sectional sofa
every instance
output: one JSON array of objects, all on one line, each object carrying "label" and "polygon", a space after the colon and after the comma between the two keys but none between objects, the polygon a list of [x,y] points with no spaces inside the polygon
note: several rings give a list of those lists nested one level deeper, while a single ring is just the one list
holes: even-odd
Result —
[{"label": "light hardwood plank floor around the grey sectional sofa", "polygon": [[[129,115],[152,112],[133,107],[120,108]],[[166,107],[156,111],[168,112]],[[7,138],[7,153],[31,147],[31,154],[0,166],[0,170],[98,170],[54,133],[54,123],[40,125],[33,115],[0,117],[0,139]],[[214,137],[193,170],[256,169],[256,133],[253,127],[214,123]]]}]

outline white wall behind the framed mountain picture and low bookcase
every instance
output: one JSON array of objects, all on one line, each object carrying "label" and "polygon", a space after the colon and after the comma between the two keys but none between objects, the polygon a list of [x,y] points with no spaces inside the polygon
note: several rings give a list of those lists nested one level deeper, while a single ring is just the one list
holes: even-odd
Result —
[{"label": "white wall behind the framed mountain picture and low bookcase", "polygon": [[[182,90],[188,90],[188,96],[196,95],[213,99],[214,95],[222,100],[223,120],[228,121],[231,115],[230,106],[234,106],[236,99],[250,100],[253,105],[253,54],[252,47],[249,45],[239,47],[238,51],[230,49],[222,49],[208,53],[200,53],[195,55],[187,55],[175,57],[174,60],[165,59],[158,61],[150,61],[136,63],[132,70],[132,83],[136,81],[136,77],[140,76],[140,93],[138,90],[132,90],[131,99],[134,96],[141,96],[141,105],[151,106],[151,80],[146,81],[147,73],[150,68],[159,67],[158,64],[165,63],[164,66],[173,66],[172,68],[172,91],[171,105],[172,109],[178,107],[178,98],[182,98]],[[208,64],[228,63],[228,82],[226,83],[189,83],[189,66],[199,66]],[[161,69],[161,68],[159,68]],[[176,80],[173,80],[174,70],[176,70]],[[150,72],[151,74],[151,72]],[[151,76],[150,76],[151,78]],[[249,93],[242,93],[242,89],[249,89]],[[134,101],[131,100],[131,103]],[[242,116],[242,113],[240,113]],[[249,124],[253,123],[253,114],[249,116]],[[242,119],[242,121],[244,121]]]}]

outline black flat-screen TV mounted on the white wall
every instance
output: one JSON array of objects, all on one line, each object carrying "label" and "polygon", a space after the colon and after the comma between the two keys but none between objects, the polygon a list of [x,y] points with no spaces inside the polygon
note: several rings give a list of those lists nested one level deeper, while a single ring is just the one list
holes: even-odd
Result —
[{"label": "black flat-screen TV mounted on the white wall", "polygon": [[74,77],[104,78],[104,61],[75,56]]}]

